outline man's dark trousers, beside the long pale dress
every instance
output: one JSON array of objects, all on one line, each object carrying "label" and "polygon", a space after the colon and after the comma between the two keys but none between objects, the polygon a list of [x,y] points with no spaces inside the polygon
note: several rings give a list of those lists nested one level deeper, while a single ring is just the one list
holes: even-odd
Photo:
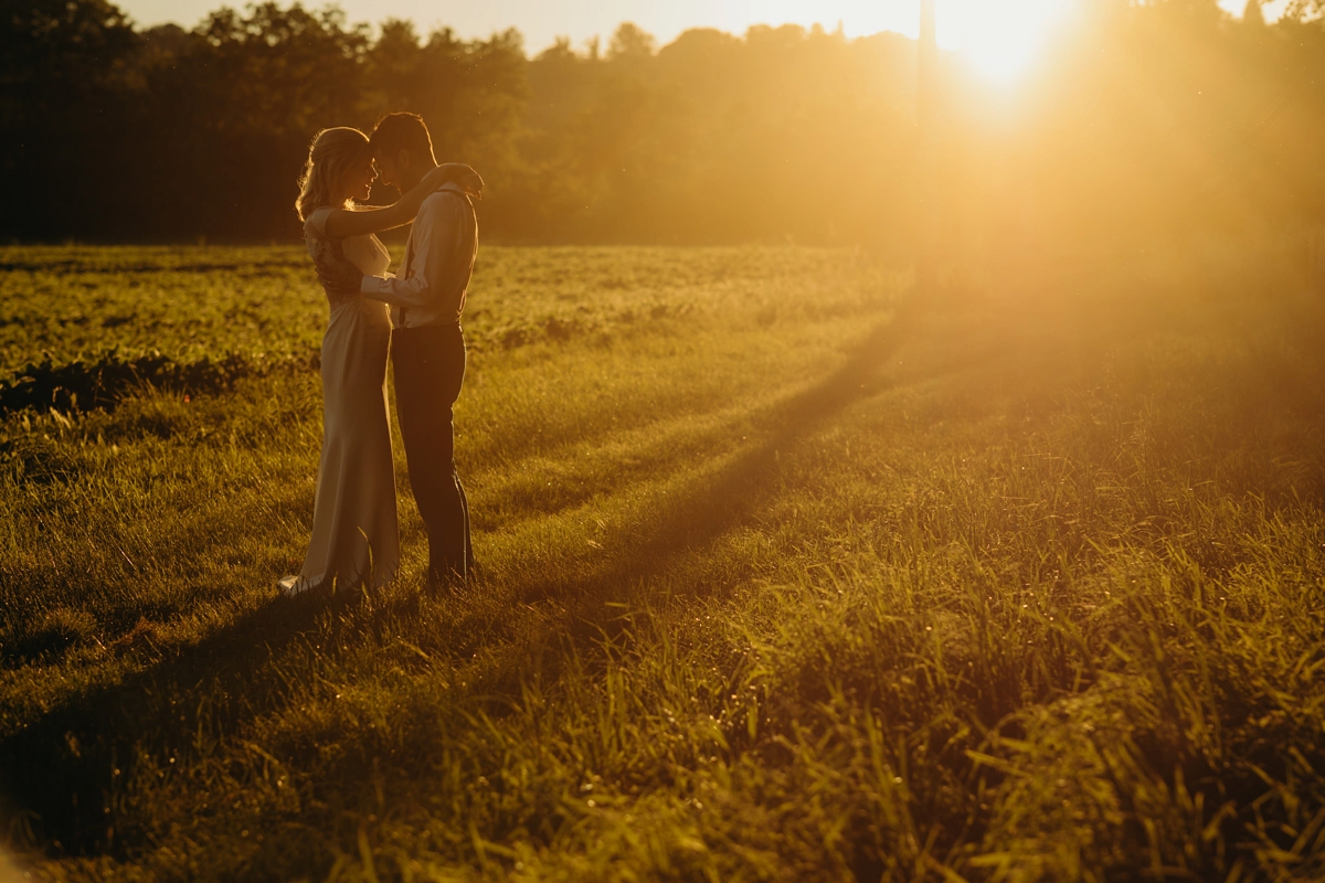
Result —
[{"label": "man's dark trousers, beside the long pale dress", "polygon": [[452,425],[452,408],[465,381],[465,336],[458,324],[396,328],[391,364],[409,488],[428,528],[429,580],[466,577],[474,553]]}]

